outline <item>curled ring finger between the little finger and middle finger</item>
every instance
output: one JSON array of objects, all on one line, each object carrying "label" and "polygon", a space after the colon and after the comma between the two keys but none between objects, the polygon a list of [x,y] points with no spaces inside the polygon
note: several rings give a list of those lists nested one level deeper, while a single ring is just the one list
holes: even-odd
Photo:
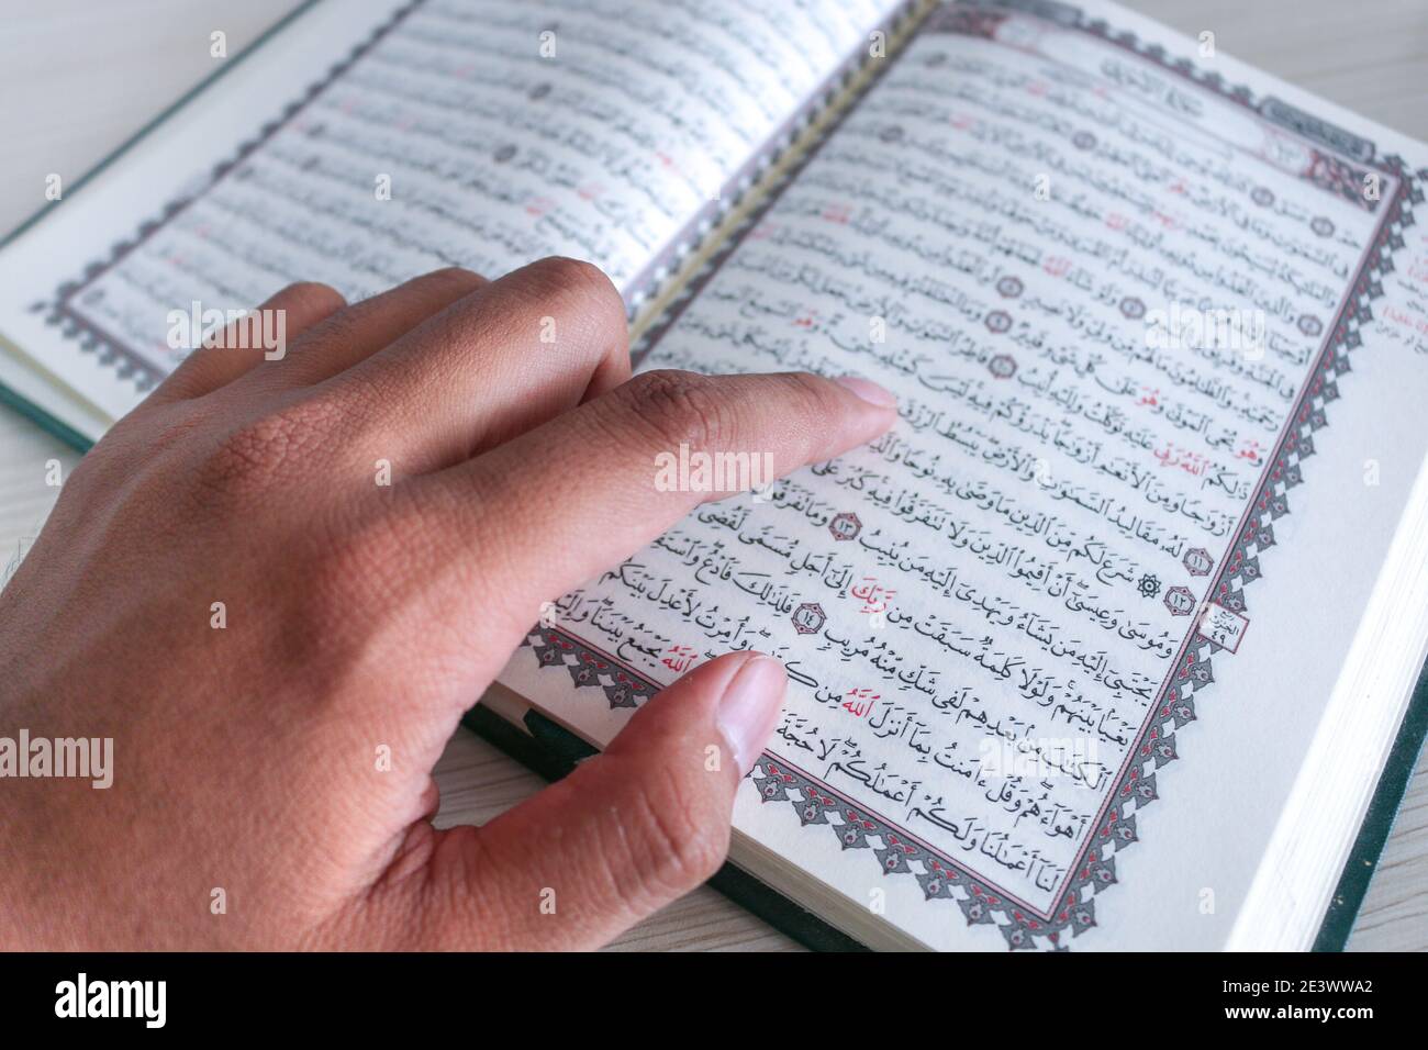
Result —
[{"label": "curled ring finger between the little finger and middle finger", "polygon": [[486,279],[451,266],[413,277],[381,294],[353,303],[303,334],[298,353],[267,381],[306,386],[351,369],[390,343],[486,286]]}]

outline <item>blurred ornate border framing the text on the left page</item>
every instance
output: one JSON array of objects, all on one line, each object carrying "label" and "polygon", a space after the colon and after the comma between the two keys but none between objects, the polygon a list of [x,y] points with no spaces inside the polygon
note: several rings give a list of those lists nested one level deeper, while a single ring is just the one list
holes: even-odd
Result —
[{"label": "blurred ornate border framing the text on the left page", "polygon": [[[149,359],[137,353],[124,340],[113,336],[103,326],[96,324],[91,319],[80,313],[74,307],[74,300],[90,284],[123,261],[127,254],[173,221],[184,209],[231,174],[248,156],[263,147],[283,127],[297,119],[316,99],[351,69],[358,59],[366,56],[384,37],[390,36],[424,3],[426,0],[407,0],[406,4],[393,11],[391,17],[378,24],[366,40],[353,47],[347,57],[334,63],[320,80],[310,84],[300,97],[284,106],[277,117],[263,124],[253,139],[241,143],[230,159],[216,164],[198,189],[187,196],[170,200],[164,204],[159,216],[140,223],[131,237],[110,246],[110,253],[106,259],[96,259],[86,263],[79,277],[61,283],[54,290],[53,299],[33,303],[30,311],[46,314],[46,324],[60,329],[60,334],[64,339],[76,341],[81,353],[97,354],[100,366],[113,369],[121,380],[133,381],[139,393],[154,389],[163,381],[166,373],[154,367]],[[927,3],[928,0],[901,0],[884,20],[881,26],[883,31],[890,37],[897,36]],[[861,46],[854,49],[810,94],[808,101],[795,109],[768,136],[763,147],[728,177],[720,196],[698,209],[675,231],[670,243],[640,269],[631,280],[627,293],[627,310],[631,320],[645,303],[658,296],[667,281],[680,273],[683,260],[698,253],[705,240],[720,229],[724,219],[738,209],[750,190],[758,186],[760,179],[778,164],[804,130],[817,123],[818,116],[853,83],[858,71],[868,61],[870,57],[863,53]]]}]

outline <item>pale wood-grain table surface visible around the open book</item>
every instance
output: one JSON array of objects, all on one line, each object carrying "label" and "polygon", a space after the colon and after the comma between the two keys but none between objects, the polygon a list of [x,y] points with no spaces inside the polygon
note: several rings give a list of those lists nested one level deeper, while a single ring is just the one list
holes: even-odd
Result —
[{"label": "pale wood-grain table surface visible around the open book", "polygon": [[[338,1],[338,0],[330,0]],[[0,231],[66,186],[213,71],[208,39],[237,54],[293,0],[0,0]],[[1132,0],[1175,29],[1418,139],[1428,139],[1428,3],[1424,0]],[[46,464],[77,456],[0,409],[0,569],[54,503]],[[1428,760],[1382,854],[1349,947],[1428,950]],[[483,823],[541,781],[461,730],[437,767],[438,823]],[[627,933],[625,950],[793,950],[797,946],[701,889]]]}]

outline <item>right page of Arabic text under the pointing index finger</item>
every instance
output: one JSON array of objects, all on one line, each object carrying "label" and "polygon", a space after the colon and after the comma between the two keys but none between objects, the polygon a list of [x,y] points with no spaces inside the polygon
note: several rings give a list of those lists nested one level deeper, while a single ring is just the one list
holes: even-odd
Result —
[{"label": "right page of Arabic text under the pointing index finger", "polygon": [[1428,151],[1198,51],[935,11],[644,363],[861,374],[900,424],[563,597],[503,681],[601,741],[773,653],[755,841],[932,947],[1221,944],[1428,450]]}]

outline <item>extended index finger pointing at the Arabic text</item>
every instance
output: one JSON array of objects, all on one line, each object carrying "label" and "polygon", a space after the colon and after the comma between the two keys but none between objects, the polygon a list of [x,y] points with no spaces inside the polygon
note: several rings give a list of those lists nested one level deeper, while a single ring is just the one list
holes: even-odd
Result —
[{"label": "extended index finger pointing at the Arabic text", "polygon": [[431,537],[421,553],[434,559],[433,574],[466,566],[457,573],[466,594],[487,596],[473,616],[506,614],[520,631],[543,600],[630,557],[700,503],[840,456],[895,419],[892,396],[860,379],[644,373],[474,460],[413,479],[413,527]]}]

